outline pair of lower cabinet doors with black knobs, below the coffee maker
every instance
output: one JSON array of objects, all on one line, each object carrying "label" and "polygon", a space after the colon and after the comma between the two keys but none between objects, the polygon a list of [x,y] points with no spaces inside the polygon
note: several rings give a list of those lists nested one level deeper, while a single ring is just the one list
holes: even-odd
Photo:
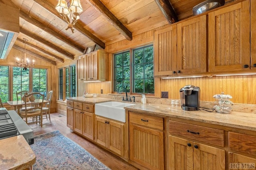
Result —
[{"label": "pair of lower cabinet doors with black knobs, below the coffee maker", "polygon": [[169,135],[169,170],[225,170],[225,150]]}]

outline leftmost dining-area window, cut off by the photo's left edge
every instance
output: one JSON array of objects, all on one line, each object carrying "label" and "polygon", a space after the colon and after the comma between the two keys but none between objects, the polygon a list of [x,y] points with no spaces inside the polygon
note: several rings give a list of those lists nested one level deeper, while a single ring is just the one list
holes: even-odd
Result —
[{"label": "leftmost dining-area window, cut off by the photo's left edge", "polygon": [[0,98],[3,103],[9,100],[9,66],[0,66]]}]

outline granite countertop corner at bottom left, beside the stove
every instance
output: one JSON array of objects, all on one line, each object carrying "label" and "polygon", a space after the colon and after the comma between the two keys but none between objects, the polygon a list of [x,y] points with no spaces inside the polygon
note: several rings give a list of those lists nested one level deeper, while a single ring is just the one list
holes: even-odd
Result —
[{"label": "granite countertop corner at bottom left, beside the stove", "polygon": [[22,135],[0,140],[0,167],[8,170],[30,168],[36,155]]}]

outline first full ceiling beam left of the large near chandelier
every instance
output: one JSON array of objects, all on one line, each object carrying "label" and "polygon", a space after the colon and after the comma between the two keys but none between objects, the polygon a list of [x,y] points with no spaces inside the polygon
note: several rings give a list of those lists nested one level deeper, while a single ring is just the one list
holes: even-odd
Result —
[{"label": "first full ceiling beam left of the large near chandelier", "polygon": [[53,31],[52,29],[50,29],[49,27],[47,27],[46,25],[44,25],[43,23],[39,22],[38,20],[32,18],[31,16],[29,16],[28,14],[26,14],[25,12],[20,10],[20,17],[23,18],[25,21],[28,21],[29,23],[35,25],[36,27],[46,31],[47,33],[51,34],[52,36],[56,37],[57,39],[60,39],[61,41],[67,43],[68,45],[70,45],[71,47],[73,47],[74,49],[77,49],[78,51],[80,51],[81,53],[84,52],[84,47],[81,47],[75,43],[72,42],[72,40],[67,39],[66,37],[64,37],[63,35],[60,35],[59,33]]}]

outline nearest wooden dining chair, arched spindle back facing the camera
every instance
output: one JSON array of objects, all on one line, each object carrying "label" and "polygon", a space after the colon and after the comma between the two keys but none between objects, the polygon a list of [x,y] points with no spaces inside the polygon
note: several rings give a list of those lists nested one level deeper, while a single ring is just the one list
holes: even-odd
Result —
[{"label": "nearest wooden dining chair, arched spindle back facing the camera", "polygon": [[[22,119],[25,118],[25,121],[28,125],[32,123],[40,123],[42,127],[42,108],[44,102],[44,94],[34,92],[27,95],[25,94],[24,96],[25,98],[29,98],[30,101],[24,101],[25,107],[24,109],[20,110],[20,116]],[[32,117],[35,119],[32,119]],[[28,121],[28,118],[30,118],[30,121]]]}]

